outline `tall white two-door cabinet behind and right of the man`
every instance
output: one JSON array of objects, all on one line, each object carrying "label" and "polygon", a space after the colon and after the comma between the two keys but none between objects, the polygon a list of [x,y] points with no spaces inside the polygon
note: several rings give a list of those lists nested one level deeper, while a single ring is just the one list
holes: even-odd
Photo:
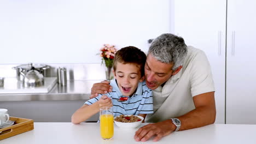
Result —
[{"label": "tall white two-door cabinet behind and right of the man", "polygon": [[250,0],[173,2],[173,33],[205,51],[210,61],[216,123],[256,124],[255,5]]}]

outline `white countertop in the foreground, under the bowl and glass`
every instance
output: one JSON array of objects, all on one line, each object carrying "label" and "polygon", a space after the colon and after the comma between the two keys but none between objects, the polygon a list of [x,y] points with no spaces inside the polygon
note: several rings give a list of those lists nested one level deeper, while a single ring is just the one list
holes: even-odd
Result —
[{"label": "white countertop in the foreground, under the bowl and glass", "polygon": [[177,131],[159,142],[136,142],[137,129],[120,129],[115,126],[112,140],[102,140],[99,123],[34,123],[34,130],[9,137],[1,144],[13,143],[256,143],[256,125],[211,124],[206,127]]}]

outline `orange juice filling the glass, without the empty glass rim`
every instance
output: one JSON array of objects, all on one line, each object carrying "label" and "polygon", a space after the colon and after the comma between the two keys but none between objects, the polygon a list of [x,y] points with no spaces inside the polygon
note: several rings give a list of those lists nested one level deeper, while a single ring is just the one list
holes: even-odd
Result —
[{"label": "orange juice filling the glass, without the empty glass rim", "polygon": [[113,115],[101,115],[101,137],[103,139],[111,139],[114,135],[114,117]]}]

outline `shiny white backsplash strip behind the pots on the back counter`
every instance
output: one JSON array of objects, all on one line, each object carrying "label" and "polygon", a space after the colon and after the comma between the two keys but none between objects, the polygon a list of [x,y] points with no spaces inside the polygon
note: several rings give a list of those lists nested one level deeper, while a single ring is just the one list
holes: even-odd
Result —
[{"label": "shiny white backsplash strip behind the pots on the back counter", "polygon": [[[0,64],[0,77],[15,77],[16,70],[12,69],[20,64]],[[104,80],[106,79],[104,65],[94,64],[47,64],[51,68],[46,70],[46,77],[57,77],[57,68],[67,69],[67,80]]]}]

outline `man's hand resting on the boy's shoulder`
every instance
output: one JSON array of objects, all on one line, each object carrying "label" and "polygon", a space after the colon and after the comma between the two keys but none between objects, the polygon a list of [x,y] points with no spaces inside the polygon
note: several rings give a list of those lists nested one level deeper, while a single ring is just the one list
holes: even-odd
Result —
[{"label": "man's hand resting on the boy's shoulder", "polygon": [[112,92],[112,86],[109,85],[109,81],[102,81],[100,83],[94,83],[94,85],[91,88],[90,99],[97,97],[98,93],[106,94],[108,92]]}]

